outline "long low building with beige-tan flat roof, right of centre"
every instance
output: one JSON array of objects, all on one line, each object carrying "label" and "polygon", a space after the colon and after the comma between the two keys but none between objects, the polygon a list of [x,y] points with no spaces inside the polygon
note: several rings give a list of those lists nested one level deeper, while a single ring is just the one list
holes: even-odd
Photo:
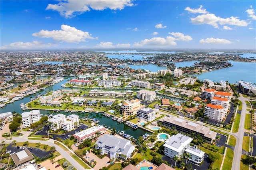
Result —
[{"label": "long low building with beige-tan flat roof, right of centre", "polygon": [[182,132],[185,134],[194,134],[194,136],[202,136],[207,142],[212,143],[216,138],[217,133],[210,130],[208,127],[204,127],[203,125],[199,125],[194,122],[190,122],[185,119],[180,119],[174,116],[165,116],[158,120],[161,123],[161,126],[172,129],[175,127],[178,132]]}]

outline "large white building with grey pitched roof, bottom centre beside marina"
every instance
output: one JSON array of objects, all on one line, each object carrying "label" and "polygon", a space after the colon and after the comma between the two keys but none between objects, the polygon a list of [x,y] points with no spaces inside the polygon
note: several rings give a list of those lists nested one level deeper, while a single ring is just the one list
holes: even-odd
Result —
[{"label": "large white building with grey pitched roof, bottom centre beside marina", "polygon": [[101,150],[102,155],[110,154],[110,158],[114,158],[114,160],[120,155],[124,155],[124,159],[130,158],[135,150],[135,145],[131,144],[130,140],[118,138],[111,134],[100,136],[95,145],[96,149]]}]

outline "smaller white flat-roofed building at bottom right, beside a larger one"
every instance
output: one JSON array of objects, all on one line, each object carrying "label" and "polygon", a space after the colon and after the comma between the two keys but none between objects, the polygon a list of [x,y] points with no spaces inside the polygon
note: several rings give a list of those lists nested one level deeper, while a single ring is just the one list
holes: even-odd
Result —
[{"label": "smaller white flat-roofed building at bottom right, beside a larger one", "polygon": [[186,148],[185,152],[188,153],[190,156],[190,157],[188,157],[188,160],[191,160],[197,164],[202,163],[204,160],[205,152],[203,152],[202,150],[200,150],[198,148],[189,146],[188,148]]}]

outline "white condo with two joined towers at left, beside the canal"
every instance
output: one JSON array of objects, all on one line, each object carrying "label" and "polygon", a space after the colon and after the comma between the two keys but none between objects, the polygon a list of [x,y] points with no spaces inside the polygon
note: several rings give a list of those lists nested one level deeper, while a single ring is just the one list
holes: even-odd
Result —
[{"label": "white condo with two joined towers at left, beside the canal", "polygon": [[32,110],[21,114],[23,127],[30,127],[32,123],[38,122],[41,119],[40,110]]}]

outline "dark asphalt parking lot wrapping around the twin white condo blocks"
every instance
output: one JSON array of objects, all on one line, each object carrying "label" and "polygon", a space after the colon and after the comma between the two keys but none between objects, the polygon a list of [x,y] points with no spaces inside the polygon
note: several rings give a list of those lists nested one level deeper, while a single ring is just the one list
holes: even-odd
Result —
[{"label": "dark asphalt parking lot wrapping around the twin white condo blocks", "polygon": [[[56,138],[61,138],[62,140],[66,140],[69,138],[68,135],[72,135],[72,134],[75,134],[76,132],[80,132],[80,130],[84,130],[88,128],[88,126],[84,125],[84,124],[81,124],[80,127],[74,129],[74,130],[71,130],[70,132],[67,132],[66,134],[62,134],[62,135],[59,135],[59,134],[52,134],[53,138],[52,139],[56,139]],[[43,136],[48,136],[48,130],[49,130],[49,127],[48,125],[45,125],[42,130],[40,131],[37,131],[35,133],[35,135],[43,135]]]}]

